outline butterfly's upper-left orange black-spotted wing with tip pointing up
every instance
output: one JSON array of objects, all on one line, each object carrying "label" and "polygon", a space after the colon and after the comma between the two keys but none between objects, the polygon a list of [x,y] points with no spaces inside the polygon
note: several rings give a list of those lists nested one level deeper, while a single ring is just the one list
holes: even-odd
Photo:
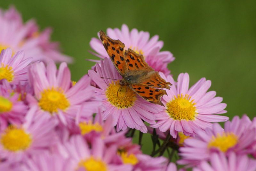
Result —
[{"label": "butterfly's upper-left orange black-spotted wing with tip pointing up", "polygon": [[100,40],[117,72],[124,77],[124,73],[127,71],[127,64],[124,59],[124,43],[111,39],[102,30],[100,30]]}]

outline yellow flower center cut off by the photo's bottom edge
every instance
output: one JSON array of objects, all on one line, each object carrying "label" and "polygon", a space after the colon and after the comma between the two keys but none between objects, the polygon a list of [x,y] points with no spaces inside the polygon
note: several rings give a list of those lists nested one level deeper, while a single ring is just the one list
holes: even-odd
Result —
[{"label": "yellow flower center cut off by the photo's bottom edge", "polygon": [[92,156],[89,159],[81,160],[78,168],[83,167],[86,171],[107,171],[106,164],[99,160],[95,160]]}]

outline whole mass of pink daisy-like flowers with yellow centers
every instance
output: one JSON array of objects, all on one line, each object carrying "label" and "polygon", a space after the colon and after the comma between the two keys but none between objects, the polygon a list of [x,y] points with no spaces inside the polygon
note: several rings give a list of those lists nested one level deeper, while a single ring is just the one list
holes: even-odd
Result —
[{"label": "whole mass of pink daisy-like flowers with yellow centers", "polygon": [[[193,171],[256,170],[255,118],[227,121],[222,98],[207,92],[210,80],[189,87],[188,73],[181,73],[174,81],[167,68],[174,57],[160,51],[157,35],[149,39],[126,25],[108,28],[107,35],[142,54],[172,84],[164,89],[164,106],[119,89],[122,77],[100,39],[90,42],[100,60],[75,82],[67,65],[72,58],[50,42],[49,29],[40,33],[33,20],[24,24],[13,7],[0,10],[0,170],[177,171],[170,159],[153,157],[174,146],[176,163]],[[62,62],[58,69],[55,62]],[[223,129],[218,122],[225,121]],[[131,129],[164,143],[143,154],[128,137]]]}]

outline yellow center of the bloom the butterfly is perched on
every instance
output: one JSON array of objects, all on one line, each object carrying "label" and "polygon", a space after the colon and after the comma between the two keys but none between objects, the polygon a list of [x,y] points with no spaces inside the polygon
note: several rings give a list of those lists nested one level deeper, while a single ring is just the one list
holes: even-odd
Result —
[{"label": "yellow center of the bloom the butterfly is perched on", "polygon": [[[109,84],[105,92],[108,101],[117,108],[131,107],[133,105],[133,102],[136,100],[136,94],[125,85],[121,89],[119,89],[121,85],[119,85],[118,83],[119,81],[115,82],[115,84],[112,81],[112,84]],[[117,93],[118,90],[119,92]]]}]

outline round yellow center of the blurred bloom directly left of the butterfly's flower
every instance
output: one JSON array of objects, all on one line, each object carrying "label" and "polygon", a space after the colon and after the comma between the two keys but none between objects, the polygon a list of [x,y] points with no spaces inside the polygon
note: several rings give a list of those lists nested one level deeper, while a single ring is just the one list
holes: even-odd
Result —
[{"label": "round yellow center of the blurred bloom directly left of the butterfly's flower", "polygon": [[64,111],[70,104],[61,88],[52,87],[52,89],[48,88],[41,92],[41,99],[38,101],[38,105],[44,111],[58,113],[57,109]]}]

